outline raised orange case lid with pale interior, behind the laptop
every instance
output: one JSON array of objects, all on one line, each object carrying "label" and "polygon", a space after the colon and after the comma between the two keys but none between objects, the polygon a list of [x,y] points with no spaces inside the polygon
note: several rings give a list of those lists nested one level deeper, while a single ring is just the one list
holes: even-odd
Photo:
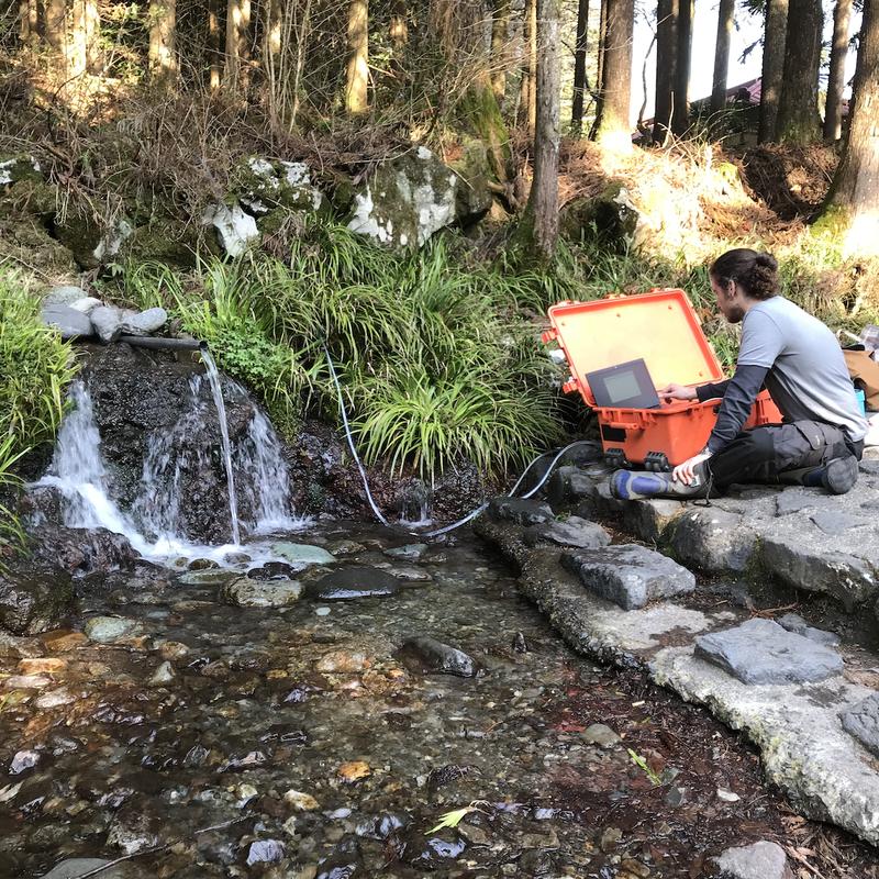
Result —
[{"label": "raised orange case lid with pale interior, behind the laptop", "polygon": [[559,302],[548,313],[553,329],[544,334],[544,342],[558,342],[572,378],[590,401],[587,372],[639,357],[656,388],[723,378],[717,356],[683,290]]}]

